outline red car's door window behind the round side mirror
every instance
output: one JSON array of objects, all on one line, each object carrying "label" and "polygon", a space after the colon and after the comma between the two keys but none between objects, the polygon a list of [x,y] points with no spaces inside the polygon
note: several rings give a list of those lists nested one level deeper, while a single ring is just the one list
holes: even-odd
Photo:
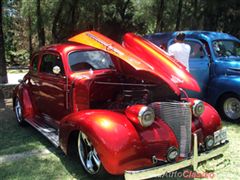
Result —
[{"label": "red car's door window behind the round side mirror", "polygon": [[44,54],[40,65],[40,72],[54,74],[53,67],[59,66],[61,69],[60,74],[64,75],[63,63],[60,56],[55,54]]}]

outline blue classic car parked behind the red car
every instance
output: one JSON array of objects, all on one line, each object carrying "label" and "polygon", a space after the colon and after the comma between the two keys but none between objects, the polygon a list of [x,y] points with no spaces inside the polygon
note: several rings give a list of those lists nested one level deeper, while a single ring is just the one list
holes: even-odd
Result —
[{"label": "blue classic car parked behind the red car", "polygon": [[[240,121],[240,40],[220,32],[182,31],[191,46],[190,73],[201,93],[188,92],[213,105],[223,119]],[[178,32],[146,35],[157,46],[167,50]]]}]

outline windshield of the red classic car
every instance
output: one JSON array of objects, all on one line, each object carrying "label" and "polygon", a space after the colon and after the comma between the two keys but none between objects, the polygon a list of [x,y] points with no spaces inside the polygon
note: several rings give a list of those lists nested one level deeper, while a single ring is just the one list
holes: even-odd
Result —
[{"label": "windshield of the red classic car", "polygon": [[103,51],[75,51],[69,54],[68,62],[72,71],[113,68],[111,56]]}]

